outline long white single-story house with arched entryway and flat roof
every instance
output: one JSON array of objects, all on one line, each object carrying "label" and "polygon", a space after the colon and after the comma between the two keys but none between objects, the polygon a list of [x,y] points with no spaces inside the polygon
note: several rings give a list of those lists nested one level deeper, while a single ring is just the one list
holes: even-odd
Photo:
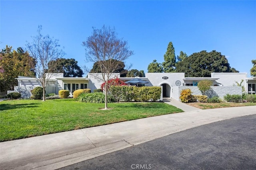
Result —
[{"label": "long white single-story house with arched entryway and flat roof", "polygon": [[[247,73],[217,73],[211,74],[211,77],[185,77],[185,73],[146,73],[145,77],[140,79],[147,81],[148,83],[142,84],[143,86],[162,86],[162,96],[175,98],[179,100],[180,92],[184,88],[190,88],[194,95],[200,95],[201,92],[197,88],[197,84],[201,80],[212,80],[212,91],[209,96],[219,96],[222,98],[226,94],[242,94],[241,86],[234,86],[236,82],[242,82],[242,86],[245,87],[248,94],[256,93],[256,78],[248,78]],[[59,90],[69,90],[70,96],[73,96],[73,92],[77,89],[90,88],[93,92],[94,89],[100,88],[103,83],[97,77],[100,77],[101,73],[90,73],[88,78],[86,77],[64,77],[63,73],[54,73],[47,84],[46,94],[56,93]],[[112,78],[120,78],[119,73],[112,74]],[[132,80],[133,77],[124,77],[120,80],[127,82]],[[36,86],[40,86],[40,82],[36,78],[22,77],[17,78],[18,86],[14,87],[14,91],[20,92],[22,98],[30,98],[30,90]]]}]

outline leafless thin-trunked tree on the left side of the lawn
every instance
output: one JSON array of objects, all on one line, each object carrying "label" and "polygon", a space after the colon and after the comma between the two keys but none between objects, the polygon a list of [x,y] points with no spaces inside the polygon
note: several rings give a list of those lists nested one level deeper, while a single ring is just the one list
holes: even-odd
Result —
[{"label": "leafless thin-trunked tree on the left side of the lawn", "polygon": [[45,89],[48,81],[54,75],[49,72],[50,68],[55,67],[55,61],[65,55],[64,51],[60,49],[57,39],[51,38],[49,35],[41,35],[42,25],[38,26],[38,35],[32,37],[33,41],[27,43],[26,47],[36,62],[35,72],[38,81],[42,84],[44,91],[43,101],[45,101]]}]

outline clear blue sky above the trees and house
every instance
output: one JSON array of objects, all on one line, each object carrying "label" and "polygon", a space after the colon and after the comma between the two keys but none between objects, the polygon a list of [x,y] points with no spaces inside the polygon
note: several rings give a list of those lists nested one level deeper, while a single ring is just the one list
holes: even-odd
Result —
[{"label": "clear blue sky above the trees and house", "polygon": [[256,1],[0,1],[1,49],[25,49],[38,25],[81,67],[92,67],[82,41],[103,25],[115,27],[134,51],[126,65],[144,72],[154,59],[164,61],[170,41],[176,55],[221,52],[248,77],[256,59]]}]

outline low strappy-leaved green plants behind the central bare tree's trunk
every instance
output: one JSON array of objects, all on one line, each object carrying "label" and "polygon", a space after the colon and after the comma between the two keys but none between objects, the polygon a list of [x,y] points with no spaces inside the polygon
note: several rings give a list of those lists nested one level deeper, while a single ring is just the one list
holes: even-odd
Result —
[{"label": "low strappy-leaved green plants behind the central bare tree's trunk", "polygon": [[[113,98],[111,95],[108,95],[107,102],[113,102]],[[82,93],[78,96],[79,102],[86,103],[105,103],[105,94],[102,92],[94,92],[94,93]]]}]

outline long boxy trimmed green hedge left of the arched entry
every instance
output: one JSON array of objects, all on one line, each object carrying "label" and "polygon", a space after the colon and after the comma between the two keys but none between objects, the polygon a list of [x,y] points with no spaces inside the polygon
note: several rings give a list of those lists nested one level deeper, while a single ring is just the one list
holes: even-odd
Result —
[{"label": "long boxy trimmed green hedge left of the arched entry", "polygon": [[161,87],[111,86],[108,90],[115,102],[155,102],[161,98]]}]

